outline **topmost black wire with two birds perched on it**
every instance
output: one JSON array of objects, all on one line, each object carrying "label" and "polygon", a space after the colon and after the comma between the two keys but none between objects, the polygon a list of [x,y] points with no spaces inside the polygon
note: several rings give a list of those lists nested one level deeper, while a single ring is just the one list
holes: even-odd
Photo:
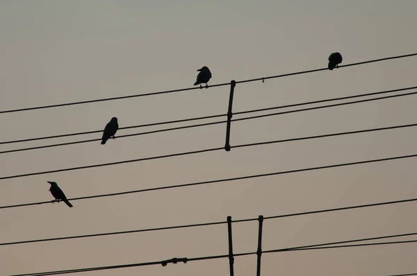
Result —
[{"label": "topmost black wire with two birds perched on it", "polygon": [[[417,53],[411,53],[411,54],[407,54],[407,55],[397,55],[397,56],[388,57],[388,58],[379,58],[377,60],[367,60],[367,61],[363,61],[363,62],[345,64],[345,65],[339,66],[338,68],[350,67],[350,66],[366,64],[366,63],[371,63],[371,62],[379,62],[379,61],[383,61],[383,60],[393,60],[393,59],[396,59],[396,58],[408,58],[408,57],[411,57],[411,56],[414,56],[414,55],[417,55]],[[295,76],[295,75],[307,74],[307,73],[313,73],[313,72],[325,71],[325,70],[328,70],[328,68],[313,69],[313,70],[307,70],[307,71],[299,71],[299,72],[295,72],[295,73],[281,74],[281,75],[277,75],[277,76],[269,76],[269,77],[263,77],[263,78],[252,78],[250,80],[238,80],[238,81],[236,81],[236,84],[237,83],[250,83],[250,82],[259,81],[259,80],[268,80],[268,79],[272,79],[272,78],[281,78],[281,77],[285,77],[285,76]],[[225,85],[230,85],[230,83],[220,83],[218,85],[209,85],[208,87],[220,87],[220,86],[225,86]],[[145,93],[145,94],[129,95],[129,96],[119,96],[119,97],[113,97],[113,98],[99,98],[99,99],[90,100],[90,101],[78,101],[78,102],[72,102],[72,103],[60,103],[60,104],[56,104],[56,105],[42,105],[42,106],[38,106],[38,107],[26,107],[26,108],[20,108],[20,109],[15,109],[15,110],[3,110],[3,111],[0,111],[0,114],[1,113],[11,113],[11,112],[22,112],[22,111],[27,111],[27,110],[40,110],[40,109],[44,109],[44,108],[62,107],[62,106],[67,106],[67,105],[80,105],[80,104],[83,104],[83,103],[97,103],[97,102],[101,102],[101,101],[114,101],[114,100],[120,100],[120,99],[124,99],[124,98],[136,98],[136,97],[140,97],[140,96],[153,96],[153,95],[159,95],[159,94],[183,92],[183,91],[194,90],[194,89],[201,89],[201,88],[200,87],[189,87],[189,88],[183,88],[183,89],[174,89],[174,90],[167,90],[167,91],[161,91],[161,92],[151,92],[151,93]]]}]

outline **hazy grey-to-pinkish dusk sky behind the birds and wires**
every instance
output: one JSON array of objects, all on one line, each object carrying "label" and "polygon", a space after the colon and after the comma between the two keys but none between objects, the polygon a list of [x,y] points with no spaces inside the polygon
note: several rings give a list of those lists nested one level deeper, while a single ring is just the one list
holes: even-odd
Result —
[{"label": "hazy grey-to-pinkish dusk sky behind the birds and wires", "polygon": [[[415,53],[417,1],[0,2],[0,110],[211,85]],[[236,86],[234,112],[416,86],[417,58]],[[227,112],[229,87],[0,114],[0,141]],[[416,96],[232,123],[231,145],[416,123]],[[237,117],[236,117],[237,118]],[[213,120],[217,121],[217,120]],[[179,124],[178,126],[181,126]],[[165,126],[161,127],[165,128]],[[154,130],[120,130],[117,135]],[[0,155],[0,176],[224,146],[215,125]],[[0,150],[83,137],[1,145]],[[0,205],[52,200],[417,153],[416,128],[235,148],[149,162],[1,180]],[[414,198],[416,159],[1,209],[0,243],[273,216]],[[416,232],[416,203],[265,221],[263,249]],[[256,250],[257,222],[233,225],[234,252]],[[405,238],[407,240],[413,237]],[[414,238],[415,239],[415,238]],[[400,239],[397,239],[400,240]],[[1,275],[227,254],[227,226],[0,246]],[[262,256],[262,275],[417,273],[416,244]],[[256,273],[256,255],[235,275]],[[82,273],[80,273],[81,275]],[[229,260],[85,275],[229,275]]]}]

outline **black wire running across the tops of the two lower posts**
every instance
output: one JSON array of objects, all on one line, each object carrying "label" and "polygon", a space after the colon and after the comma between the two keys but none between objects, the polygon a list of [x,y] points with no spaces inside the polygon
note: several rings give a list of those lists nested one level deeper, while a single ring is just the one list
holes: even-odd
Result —
[{"label": "black wire running across the tops of the two lower posts", "polygon": [[[72,199],[70,199],[72,200]],[[290,216],[305,216],[310,214],[320,214],[320,213],[328,213],[328,212],[337,212],[337,211],[344,211],[349,209],[360,209],[366,207],[376,207],[376,206],[383,206],[383,205],[392,205],[398,203],[405,203],[405,202],[413,202],[416,201],[417,198],[411,198],[407,200],[395,200],[395,201],[388,201],[388,202],[378,202],[378,203],[370,203],[366,205],[354,205],[348,207],[338,207],[332,209],[320,209],[315,211],[309,212],[301,212],[301,213],[292,213],[292,214],[283,214],[277,216],[265,216],[263,217],[264,220],[268,219],[275,219],[275,218],[287,218]],[[50,203],[50,202],[49,202]],[[243,223],[249,221],[258,221],[258,218],[246,218],[241,220],[232,221],[232,223]],[[83,238],[92,238],[95,236],[113,236],[119,234],[132,234],[132,233],[140,233],[140,232],[154,232],[154,231],[161,231],[161,230],[172,230],[172,229],[179,229],[179,228],[190,228],[190,227],[201,227],[201,226],[208,226],[208,225],[222,225],[227,224],[227,221],[216,221],[211,223],[195,223],[195,224],[188,224],[188,225],[175,225],[175,226],[167,226],[167,227],[156,227],[156,228],[145,228],[139,230],[129,230],[129,231],[119,231],[119,232],[105,232],[105,233],[98,233],[98,234],[84,234],[79,236],[62,236],[58,238],[49,238],[49,239],[35,239],[35,240],[28,240],[28,241],[12,241],[8,243],[0,243],[0,246],[4,245],[17,245],[22,243],[40,243],[45,241],[61,241],[66,239],[83,239]]]}]

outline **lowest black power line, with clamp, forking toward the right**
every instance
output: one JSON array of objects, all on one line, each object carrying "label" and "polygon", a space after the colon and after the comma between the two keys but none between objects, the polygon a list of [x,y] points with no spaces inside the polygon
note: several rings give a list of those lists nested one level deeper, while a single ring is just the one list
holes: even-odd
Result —
[{"label": "lowest black power line, with clamp, forking toward the right", "polygon": [[[347,247],[361,247],[361,246],[375,246],[375,245],[389,245],[389,244],[398,244],[398,243],[415,243],[417,240],[411,241],[388,241],[382,243],[359,243],[353,245],[336,245],[341,243],[352,243],[357,241],[370,241],[370,240],[377,240],[377,239],[388,239],[391,237],[398,237],[398,236],[410,236],[415,235],[417,233],[407,233],[407,234],[397,234],[391,236],[376,236],[373,238],[366,238],[366,239],[355,239],[355,240],[347,240],[347,241],[336,241],[334,243],[321,243],[321,244],[314,244],[314,245],[302,245],[293,248],[281,248],[276,250],[265,250],[262,253],[275,253],[275,252],[291,252],[291,251],[299,251],[299,250],[322,250],[322,249],[329,249],[329,248],[347,248]],[[324,247],[322,245],[334,245],[334,246],[327,246]],[[234,254],[234,257],[242,257],[248,255],[256,255],[256,252],[245,252],[245,253],[238,253]],[[195,258],[184,258],[185,262],[188,261],[202,261],[208,259],[224,259],[228,258],[229,255],[213,255],[213,256],[205,256],[205,257],[195,257]],[[70,270],[56,270],[56,271],[47,271],[42,273],[30,273],[30,274],[19,274],[13,276],[45,276],[45,275],[59,275],[59,274],[67,274],[67,273],[81,273],[81,272],[88,272],[88,271],[97,271],[97,270],[108,270],[108,269],[118,269],[118,268],[131,268],[137,266],[153,266],[156,264],[163,264],[164,261],[150,261],[146,263],[137,263],[137,264],[122,264],[116,266],[99,266],[99,267],[91,267],[91,268],[77,268],[77,269],[70,269]]]}]

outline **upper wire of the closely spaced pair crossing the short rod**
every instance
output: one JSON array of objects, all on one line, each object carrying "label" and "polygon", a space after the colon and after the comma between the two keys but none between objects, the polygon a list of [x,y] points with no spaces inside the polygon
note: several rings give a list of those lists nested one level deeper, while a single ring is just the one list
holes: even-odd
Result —
[{"label": "upper wire of the closely spaced pair crossing the short rod", "polygon": [[[343,96],[343,97],[338,97],[338,98],[327,98],[327,99],[323,99],[323,100],[309,101],[309,102],[304,102],[304,103],[293,103],[293,104],[289,104],[289,105],[279,105],[279,106],[275,106],[275,107],[266,107],[266,108],[260,108],[260,109],[256,109],[256,110],[247,110],[247,111],[234,112],[233,114],[234,115],[247,114],[247,113],[253,113],[253,112],[263,112],[263,111],[268,111],[268,110],[277,110],[277,109],[282,109],[282,108],[286,108],[286,107],[296,107],[296,106],[301,106],[301,105],[311,105],[311,104],[315,104],[315,103],[325,103],[325,102],[329,102],[329,101],[341,101],[341,100],[347,100],[349,98],[359,98],[359,97],[363,97],[363,96],[375,96],[375,95],[378,95],[378,94],[387,94],[387,93],[392,93],[392,92],[400,92],[400,91],[409,90],[409,89],[417,89],[417,86],[404,87],[404,88],[400,88],[400,89],[391,89],[391,90],[386,90],[386,91],[381,91],[381,92],[357,94],[357,95],[352,95],[352,96]],[[324,105],[324,107],[332,107],[332,106],[333,105],[329,105],[329,106]],[[304,110],[301,110],[301,111],[304,111]],[[186,121],[197,121],[197,120],[213,119],[213,118],[226,117],[226,116],[227,116],[227,114],[216,114],[216,115],[210,115],[210,116],[205,116],[205,117],[179,119],[179,120],[174,120],[174,121],[162,121],[162,122],[157,122],[157,123],[146,123],[146,124],[143,124],[143,125],[122,127],[122,128],[119,128],[119,130],[125,130],[125,129],[131,129],[131,128],[143,128],[143,127],[148,127],[148,126],[159,126],[159,125],[164,125],[164,124],[169,124],[169,123],[183,123],[183,122],[186,122]],[[232,120],[232,121],[234,121],[234,120]],[[35,137],[35,138],[19,139],[19,140],[13,140],[13,141],[0,141],[0,144],[13,144],[13,143],[26,142],[26,141],[54,139],[54,138],[70,137],[70,136],[76,136],[76,135],[89,135],[89,134],[94,134],[94,133],[99,133],[99,132],[103,132],[103,130],[92,130],[92,131],[86,131],[86,132],[76,132],[76,133],[69,133],[69,134],[63,134],[63,135],[53,135],[53,136],[47,136],[47,137]]]}]

